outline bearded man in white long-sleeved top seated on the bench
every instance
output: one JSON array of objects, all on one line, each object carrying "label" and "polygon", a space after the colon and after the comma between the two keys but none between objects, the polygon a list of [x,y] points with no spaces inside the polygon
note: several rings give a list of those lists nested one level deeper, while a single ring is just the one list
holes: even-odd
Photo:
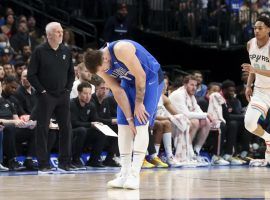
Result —
[{"label": "bearded man in white long-sleeved top seated on the bench", "polygon": [[189,118],[191,141],[194,144],[195,155],[200,160],[200,151],[209,134],[210,122],[215,122],[211,115],[201,110],[194,96],[197,78],[188,75],[184,78],[183,83],[184,86],[171,93],[169,99],[178,113],[183,113]]}]

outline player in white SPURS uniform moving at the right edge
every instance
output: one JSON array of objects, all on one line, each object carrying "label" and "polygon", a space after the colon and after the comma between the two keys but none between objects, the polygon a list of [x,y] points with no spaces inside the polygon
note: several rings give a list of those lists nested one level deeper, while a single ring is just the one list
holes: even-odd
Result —
[{"label": "player in white SPURS uniform moving at the right edge", "polygon": [[[270,108],[270,19],[259,17],[254,25],[255,37],[247,43],[251,64],[242,64],[242,71],[249,72],[246,98],[249,105],[245,115],[245,127],[251,133],[263,138],[266,143],[265,162],[270,164],[270,134],[258,120],[265,117]],[[254,82],[255,81],[255,82]],[[252,84],[254,91],[252,94]]]}]

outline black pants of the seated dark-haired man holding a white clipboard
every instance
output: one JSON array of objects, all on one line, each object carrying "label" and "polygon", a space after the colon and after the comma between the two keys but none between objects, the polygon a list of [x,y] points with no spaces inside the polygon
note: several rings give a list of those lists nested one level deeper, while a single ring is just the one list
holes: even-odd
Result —
[{"label": "black pants of the seated dark-haired man holding a white clipboard", "polygon": [[[89,122],[90,123],[90,122]],[[80,158],[83,148],[91,146],[90,162],[97,162],[104,148],[106,136],[94,128],[78,127],[72,130],[72,157]]]}]

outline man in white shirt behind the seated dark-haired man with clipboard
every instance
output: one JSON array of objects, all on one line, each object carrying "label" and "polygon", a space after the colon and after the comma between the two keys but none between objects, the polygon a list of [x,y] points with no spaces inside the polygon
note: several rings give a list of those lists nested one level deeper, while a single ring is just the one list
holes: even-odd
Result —
[{"label": "man in white shirt behind the seated dark-haired man with clipboard", "polygon": [[[77,90],[78,85],[83,81],[90,83],[91,78],[92,78],[92,74],[86,69],[85,64],[83,62],[77,65],[77,70],[78,70],[79,79],[77,79],[73,82],[73,86],[72,86],[71,93],[70,93],[71,99],[76,98],[78,96],[78,90]],[[92,91],[92,93],[94,93],[95,86],[92,84],[91,84],[91,86],[92,86],[91,91]]]}]

